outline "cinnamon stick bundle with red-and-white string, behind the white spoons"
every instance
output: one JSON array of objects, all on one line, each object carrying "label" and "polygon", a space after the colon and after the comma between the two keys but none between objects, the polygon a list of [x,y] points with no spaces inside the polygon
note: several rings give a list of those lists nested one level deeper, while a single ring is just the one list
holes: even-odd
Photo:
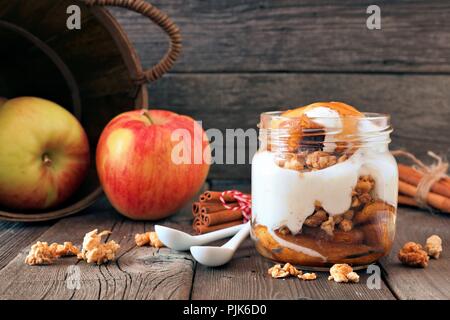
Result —
[{"label": "cinnamon stick bundle with red-and-white string, behind the white spoons", "polygon": [[231,196],[224,195],[227,209],[220,201],[221,192],[205,191],[199,197],[199,201],[192,204],[194,222],[192,228],[196,234],[208,233],[243,223],[242,210],[233,209],[239,207],[238,202]]}]

